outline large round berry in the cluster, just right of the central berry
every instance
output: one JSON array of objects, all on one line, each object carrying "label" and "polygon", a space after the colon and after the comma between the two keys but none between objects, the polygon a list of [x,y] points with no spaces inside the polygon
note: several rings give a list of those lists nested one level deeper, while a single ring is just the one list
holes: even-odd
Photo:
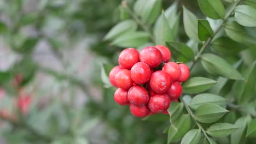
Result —
[{"label": "large round berry in the cluster, just right of the central berry", "polygon": [[155,71],[150,77],[150,87],[156,93],[166,93],[172,86],[172,78],[165,71]]}]

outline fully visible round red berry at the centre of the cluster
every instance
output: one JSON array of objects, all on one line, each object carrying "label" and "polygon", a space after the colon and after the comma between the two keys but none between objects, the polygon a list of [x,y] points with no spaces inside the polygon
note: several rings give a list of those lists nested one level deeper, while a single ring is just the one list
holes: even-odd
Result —
[{"label": "fully visible round red berry at the centre of the cluster", "polygon": [[150,79],[151,70],[146,63],[138,62],[131,68],[131,79],[138,84],[144,84]]}]

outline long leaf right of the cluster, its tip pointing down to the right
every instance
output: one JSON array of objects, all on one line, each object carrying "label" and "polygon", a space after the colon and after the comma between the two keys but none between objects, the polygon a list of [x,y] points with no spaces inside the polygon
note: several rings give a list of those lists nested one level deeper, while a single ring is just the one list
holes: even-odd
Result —
[{"label": "long leaf right of the cluster, its tip pointing down to the right", "polygon": [[211,53],[201,55],[201,59],[203,68],[205,68],[208,73],[224,76],[232,80],[243,80],[241,74],[226,62],[225,59]]}]

